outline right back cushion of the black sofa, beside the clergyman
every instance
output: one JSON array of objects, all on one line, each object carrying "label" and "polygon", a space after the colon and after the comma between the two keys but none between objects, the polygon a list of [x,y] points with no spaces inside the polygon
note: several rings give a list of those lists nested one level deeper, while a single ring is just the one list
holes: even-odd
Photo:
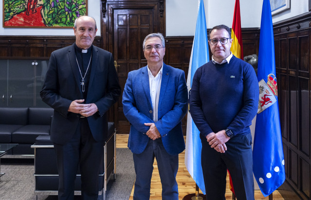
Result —
[{"label": "right back cushion of the black sofa, beside the clergyman", "polygon": [[50,125],[53,108],[30,107],[28,110],[28,124]]}]

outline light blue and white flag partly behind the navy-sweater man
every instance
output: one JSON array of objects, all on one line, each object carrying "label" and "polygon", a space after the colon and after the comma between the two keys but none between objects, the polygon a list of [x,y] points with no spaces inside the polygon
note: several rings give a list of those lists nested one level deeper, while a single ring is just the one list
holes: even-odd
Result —
[{"label": "light blue and white flag partly behind the navy-sweater man", "polygon": [[[205,11],[203,0],[199,0],[199,12],[197,18],[196,32],[193,39],[190,64],[187,77],[188,91],[192,86],[192,79],[196,70],[209,61],[208,54],[208,38],[205,20]],[[194,124],[190,113],[187,116],[187,136],[184,163],[197,183],[203,194],[205,194],[205,186],[203,180],[203,172],[201,166],[201,139],[200,132]]]}]

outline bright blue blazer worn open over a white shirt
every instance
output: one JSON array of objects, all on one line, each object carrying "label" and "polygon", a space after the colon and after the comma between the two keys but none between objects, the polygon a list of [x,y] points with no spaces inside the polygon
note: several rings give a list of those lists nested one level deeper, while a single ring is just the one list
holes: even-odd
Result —
[{"label": "bright blue blazer worn open over a white shirt", "polygon": [[185,145],[181,120],[187,112],[187,100],[183,70],[163,64],[158,121],[154,122],[147,66],[129,72],[122,100],[124,115],[131,124],[128,148],[133,153],[142,153],[149,140],[146,135],[149,126],[144,123],[155,123],[165,150],[171,155],[183,152]]}]

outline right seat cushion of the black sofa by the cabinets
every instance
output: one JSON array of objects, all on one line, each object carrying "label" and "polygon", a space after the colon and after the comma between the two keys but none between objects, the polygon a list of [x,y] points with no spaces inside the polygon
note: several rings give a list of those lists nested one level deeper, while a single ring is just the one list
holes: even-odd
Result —
[{"label": "right seat cushion of the black sofa by the cabinets", "polygon": [[26,125],[12,133],[12,142],[34,144],[37,136],[49,134],[50,125]]}]

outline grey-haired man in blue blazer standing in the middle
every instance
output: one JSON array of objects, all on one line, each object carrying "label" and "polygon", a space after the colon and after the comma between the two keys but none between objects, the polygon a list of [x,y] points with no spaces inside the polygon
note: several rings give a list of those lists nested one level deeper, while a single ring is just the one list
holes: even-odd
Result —
[{"label": "grey-haired man in blue blazer standing in the middle", "polygon": [[136,172],[134,200],[148,200],[154,158],[162,183],[162,199],[178,200],[178,154],[184,148],[181,120],[187,111],[183,70],[163,63],[165,40],[151,33],[143,42],[147,66],[128,73],[123,112],[131,124],[128,148]]}]

